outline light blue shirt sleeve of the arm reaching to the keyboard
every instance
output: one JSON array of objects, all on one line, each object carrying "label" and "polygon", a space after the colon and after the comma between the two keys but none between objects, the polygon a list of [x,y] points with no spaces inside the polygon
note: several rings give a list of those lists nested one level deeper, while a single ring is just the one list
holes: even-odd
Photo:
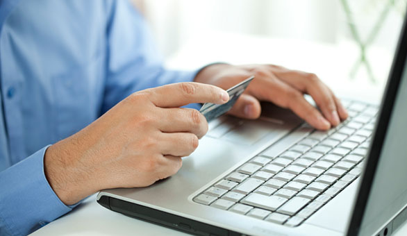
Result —
[{"label": "light blue shirt sleeve of the arm reaching to the keyboard", "polygon": [[111,9],[102,113],[133,92],[194,80],[199,70],[177,71],[163,66],[145,19],[131,3],[114,1]]}]

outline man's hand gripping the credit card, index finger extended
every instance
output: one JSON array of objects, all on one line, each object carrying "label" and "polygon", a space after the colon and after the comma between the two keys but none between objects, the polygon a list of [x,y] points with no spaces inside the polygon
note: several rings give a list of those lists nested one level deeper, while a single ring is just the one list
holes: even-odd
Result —
[{"label": "man's hand gripping the credit card, index finger extended", "polygon": [[175,174],[208,123],[189,103],[226,103],[213,85],[176,83],[136,92],[80,132],[47,149],[44,168],[67,205],[101,189],[144,187]]}]

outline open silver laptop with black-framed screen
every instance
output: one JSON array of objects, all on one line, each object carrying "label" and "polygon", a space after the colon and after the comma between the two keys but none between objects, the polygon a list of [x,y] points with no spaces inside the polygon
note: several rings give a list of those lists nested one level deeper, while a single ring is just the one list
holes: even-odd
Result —
[{"label": "open silver laptop with black-framed screen", "polygon": [[192,235],[390,235],[407,218],[406,56],[404,22],[381,106],[344,100],[338,127],[262,103],[211,121],[176,175],[97,201]]}]

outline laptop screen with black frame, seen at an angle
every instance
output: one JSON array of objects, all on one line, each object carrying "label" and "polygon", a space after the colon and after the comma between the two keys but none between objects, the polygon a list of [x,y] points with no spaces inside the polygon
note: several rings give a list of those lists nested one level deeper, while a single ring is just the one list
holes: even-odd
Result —
[{"label": "laptop screen with black frame, seen at an angle", "polygon": [[406,22],[360,181],[348,235],[374,235],[407,205]]}]

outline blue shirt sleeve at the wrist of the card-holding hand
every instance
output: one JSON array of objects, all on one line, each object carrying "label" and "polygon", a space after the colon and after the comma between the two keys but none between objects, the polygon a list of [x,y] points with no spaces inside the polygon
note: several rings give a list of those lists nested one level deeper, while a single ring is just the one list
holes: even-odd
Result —
[{"label": "blue shirt sleeve at the wrist of the card-holding hand", "polygon": [[27,235],[74,208],[60,201],[45,177],[47,147],[0,172],[0,235]]}]

